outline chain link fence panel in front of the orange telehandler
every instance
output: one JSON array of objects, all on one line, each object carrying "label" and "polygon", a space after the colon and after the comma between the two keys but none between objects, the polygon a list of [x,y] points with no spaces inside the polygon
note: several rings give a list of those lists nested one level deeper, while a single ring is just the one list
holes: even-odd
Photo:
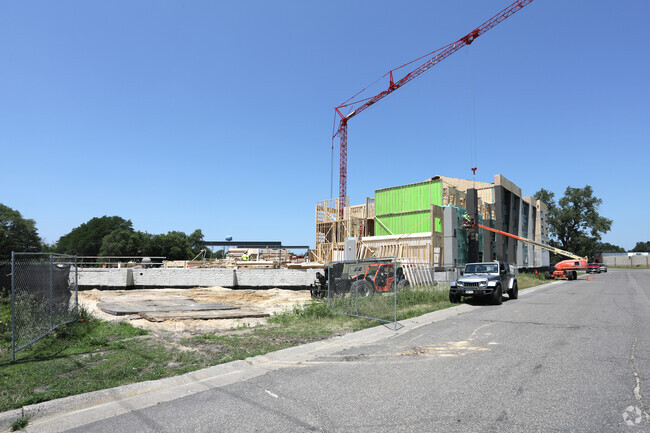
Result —
[{"label": "chain link fence panel in front of the orange telehandler", "polygon": [[334,262],[328,272],[327,301],[333,312],[392,323],[397,329],[400,308],[447,297],[454,274],[394,257]]}]

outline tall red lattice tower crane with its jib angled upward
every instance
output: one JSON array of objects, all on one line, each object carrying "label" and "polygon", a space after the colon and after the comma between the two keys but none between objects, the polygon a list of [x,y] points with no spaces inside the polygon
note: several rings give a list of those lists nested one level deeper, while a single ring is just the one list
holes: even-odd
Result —
[{"label": "tall red lattice tower crane with its jib angled upward", "polygon": [[[521,8],[524,6],[528,5],[529,3],[532,3],[533,0],[517,0],[514,3],[512,3],[510,6],[499,12],[498,14],[494,15],[492,18],[457,40],[456,42],[452,42],[451,44],[444,46],[436,51],[433,51],[429,54],[426,54],[420,58],[417,58],[409,63],[406,63],[405,65],[402,65],[398,68],[391,69],[388,71],[386,74],[384,74],[381,78],[384,78],[386,75],[390,75],[390,83],[388,85],[388,89],[384,90],[383,92],[372,96],[370,98],[365,98],[365,99],[360,99],[357,101],[352,101],[352,99],[356,98],[359,96],[360,93],[362,93],[364,90],[361,92],[358,92],[354,96],[352,96],[350,99],[345,101],[343,104],[337,106],[334,108],[336,110],[336,113],[339,115],[340,120],[339,120],[339,127],[336,131],[336,133],[332,136],[332,140],[338,135],[339,136],[339,147],[341,149],[341,164],[340,164],[340,175],[339,175],[339,206],[340,206],[340,212],[341,214],[343,213],[343,208],[347,205],[345,203],[345,199],[347,196],[347,189],[348,189],[348,121],[352,119],[354,116],[358,115],[362,111],[366,110],[369,108],[371,105],[375,104],[376,102],[379,102],[381,99],[384,97],[390,95],[393,93],[395,90],[399,89],[402,87],[404,84],[408,83],[409,81],[413,80],[415,77],[421,75],[422,73],[428,71],[438,63],[440,63],[442,60],[446,59],[465,45],[469,45],[476,38],[481,36],[483,33],[487,32],[490,30],[492,27],[496,26],[500,22],[504,21],[506,18],[510,17],[513,15],[515,12],[519,11]],[[407,65],[410,65],[412,63],[415,63],[419,60],[423,60],[425,58],[428,58],[424,63],[422,63],[420,66],[418,66],[416,69],[413,71],[409,72],[406,74],[402,79],[399,81],[394,81],[393,78],[393,72],[397,71],[398,69],[401,69]],[[381,79],[380,78],[380,79]],[[354,108],[357,104],[361,104],[356,107],[356,109],[353,109],[350,113],[347,115],[343,114],[341,112],[342,109],[346,107],[352,107]],[[474,169],[473,169],[474,170]]]}]

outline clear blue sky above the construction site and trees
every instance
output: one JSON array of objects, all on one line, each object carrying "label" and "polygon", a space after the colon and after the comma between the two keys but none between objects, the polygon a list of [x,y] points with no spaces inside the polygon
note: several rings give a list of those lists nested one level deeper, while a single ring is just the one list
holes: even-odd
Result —
[{"label": "clear blue sky above the construction site and trees", "polygon": [[[50,243],[119,215],[313,246],[333,107],[510,3],[3,2],[0,202]],[[591,185],[603,240],[647,241],[648,17],[642,0],[534,1],[350,121],[352,203],[475,162],[524,195]],[[334,173],[338,195],[338,147]]]}]

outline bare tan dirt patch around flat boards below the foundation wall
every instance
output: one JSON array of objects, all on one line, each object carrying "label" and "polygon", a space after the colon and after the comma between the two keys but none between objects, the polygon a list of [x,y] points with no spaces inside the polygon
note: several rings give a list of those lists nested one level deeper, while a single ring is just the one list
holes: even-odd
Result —
[{"label": "bare tan dirt patch around flat boards below the foundation wall", "polygon": [[[191,319],[170,317],[163,321],[151,322],[139,314],[116,316],[102,311],[98,304],[135,302],[137,300],[156,300],[166,305],[180,304],[188,299],[197,304],[227,304],[246,310],[273,314],[303,305],[311,299],[309,290],[233,290],[223,287],[193,289],[155,289],[155,290],[84,290],[79,292],[79,304],[95,316],[108,321],[129,321],[133,326],[153,331],[166,339],[178,340],[196,334],[229,333],[241,326],[258,326],[267,323],[266,318],[246,317],[238,319]],[[171,335],[170,335],[171,334]]]}]

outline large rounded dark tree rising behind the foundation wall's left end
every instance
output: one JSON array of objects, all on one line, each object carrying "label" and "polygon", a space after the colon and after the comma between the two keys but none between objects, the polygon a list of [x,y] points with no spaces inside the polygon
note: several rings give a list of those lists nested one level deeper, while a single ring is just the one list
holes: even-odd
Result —
[{"label": "large rounded dark tree rising behind the foundation wall's left end", "polygon": [[133,232],[133,224],[118,216],[103,216],[74,228],[67,235],[61,236],[57,241],[56,250],[62,254],[76,254],[80,256],[97,256],[102,247],[104,236],[115,230]]}]

